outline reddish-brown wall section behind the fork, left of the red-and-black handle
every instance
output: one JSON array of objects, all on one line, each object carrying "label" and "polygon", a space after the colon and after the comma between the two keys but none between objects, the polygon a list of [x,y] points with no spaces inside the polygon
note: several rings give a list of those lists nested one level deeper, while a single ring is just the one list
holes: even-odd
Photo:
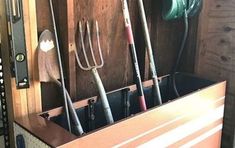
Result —
[{"label": "reddish-brown wall section behind the fork, left of the red-and-black handle", "polygon": [[[94,20],[99,22],[100,43],[105,62],[104,67],[99,69],[99,73],[105,88],[113,90],[132,82],[131,62],[122,23],[123,17],[120,2],[116,0],[99,0],[95,2],[94,0],[68,1],[68,26],[60,25],[60,30],[68,30],[68,42],[66,43],[66,40],[63,40],[62,44],[64,45],[63,47],[67,46],[67,51],[65,51],[65,54],[67,52],[65,60],[67,60],[65,63],[68,63],[66,69],[69,72],[70,93],[73,98],[75,96],[77,96],[76,98],[93,96],[98,92],[91,72],[81,70],[75,61],[74,50],[80,50],[78,21],[83,22],[83,27],[85,21],[91,21],[91,24]],[[59,4],[59,6],[61,5]],[[60,19],[64,20],[64,18],[59,18],[58,20]],[[93,43],[95,45],[95,39]]]}]

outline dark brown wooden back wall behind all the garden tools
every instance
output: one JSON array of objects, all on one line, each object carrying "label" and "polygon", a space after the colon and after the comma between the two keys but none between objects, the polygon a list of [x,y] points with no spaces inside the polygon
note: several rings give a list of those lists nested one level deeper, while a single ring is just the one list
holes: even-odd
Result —
[{"label": "dark brown wooden back wall behind all the garden tools", "polygon": [[[101,47],[104,56],[104,67],[99,69],[101,79],[107,91],[133,84],[132,65],[129,55],[129,49],[125,40],[124,22],[121,9],[121,1],[117,0],[68,0],[68,3],[74,2],[74,14],[71,14],[72,7],[67,10],[64,0],[55,2],[57,22],[59,22],[59,34],[61,40],[62,52],[64,53],[65,69],[67,71],[67,87],[74,100],[97,94],[97,88],[90,72],[82,71],[75,62],[74,54],[68,43],[74,44],[75,33],[77,31],[78,20],[99,21]],[[62,4],[61,4],[62,3]],[[183,21],[174,20],[166,22],[161,17],[161,0],[144,0],[149,27],[151,30],[152,45],[157,64],[159,76],[168,74],[174,64],[180,42],[183,36]],[[74,17],[72,28],[74,34],[66,32],[66,10],[70,17]],[[142,79],[149,79],[148,58],[146,56],[143,33],[138,13],[137,2],[129,0],[129,11],[131,15],[133,31],[136,41],[137,54],[141,69]],[[37,0],[37,19],[38,32],[46,28],[52,29],[51,18],[48,9],[47,0]],[[74,16],[73,16],[74,15]],[[65,18],[64,18],[65,17]],[[196,52],[197,20],[195,17],[190,20],[190,35],[186,46],[186,52],[182,60],[181,71],[193,72],[194,59]],[[61,25],[62,24],[62,25]],[[69,27],[71,31],[71,26]],[[64,39],[65,35],[70,36],[69,41]],[[68,49],[70,48],[70,49]],[[74,45],[73,45],[74,48]],[[72,62],[71,62],[72,61]],[[53,90],[53,94],[48,94],[48,89]],[[58,104],[58,89],[53,84],[43,84],[43,107],[48,109]],[[57,94],[55,93],[57,92]],[[54,95],[56,94],[56,95]]]}]

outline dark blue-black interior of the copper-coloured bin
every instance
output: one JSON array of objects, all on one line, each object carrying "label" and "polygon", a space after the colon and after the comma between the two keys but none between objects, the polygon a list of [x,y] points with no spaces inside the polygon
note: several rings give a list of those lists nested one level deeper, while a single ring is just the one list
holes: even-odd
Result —
[{"label": "dark blue-black interior of the copper-coloured bin", "polygon": [[[176,75],[176,86],[181,96],[203,89],[214,83],[215,82],[189,74],[178,73]],[[160,89],[164,104],[176,99],[171,86],[170,76],[166,76],[161,79]],[[148,109],[157,107],[153,105],[152,86],[145,87],[144,93]],[[138,97],[135,91],[131,92],[127,88],[123,88],[121,90],[108,93],[107,96],[115,122],[140,113]],[[90,107],[93,108],[91,109]],[[77,109],[76,112],[86,133],[107,125],[102,105],[99,100],[94,104]],[[50,120],[63,128],[67,128],[64,113],[59,116],[51,117]]]}]

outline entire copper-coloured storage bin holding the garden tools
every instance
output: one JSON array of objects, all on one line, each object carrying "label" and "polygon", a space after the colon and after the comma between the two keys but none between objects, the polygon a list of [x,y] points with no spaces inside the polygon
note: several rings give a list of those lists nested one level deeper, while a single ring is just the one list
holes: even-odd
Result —
[{"label": "entire copper-coloured storage bin holding the garden tools", "polygon": [[[150,108],[144,113],[139,113],[134,85],[109,92],[115,119],[112,125],[106,125],[97,97],[75,102],[87,132],[80,137],[64,129],[62,108],[16,119],[15,136],[22,134],[25,144],[35,147],[220,147],[226,82],[178,73],[176,82],[182,97],[174,99],[169,80],[169,76],[160,78],[164,104],[158,107],[152,105],[152,81],[144,82]],[[87,118],[89,100],[94,100],[93,122]]]}]

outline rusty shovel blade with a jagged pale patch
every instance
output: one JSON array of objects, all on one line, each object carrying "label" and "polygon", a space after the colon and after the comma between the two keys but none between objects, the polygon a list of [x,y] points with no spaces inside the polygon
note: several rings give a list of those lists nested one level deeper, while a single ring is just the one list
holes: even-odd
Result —
[{"label": "rusty shovel blade with a jagged pale patch", "polygon": [[58,65],[54,35],[49,30],[45,30],[40,35],[38,44],[40,82],[51,82],[53,79],[59,79]]}]

